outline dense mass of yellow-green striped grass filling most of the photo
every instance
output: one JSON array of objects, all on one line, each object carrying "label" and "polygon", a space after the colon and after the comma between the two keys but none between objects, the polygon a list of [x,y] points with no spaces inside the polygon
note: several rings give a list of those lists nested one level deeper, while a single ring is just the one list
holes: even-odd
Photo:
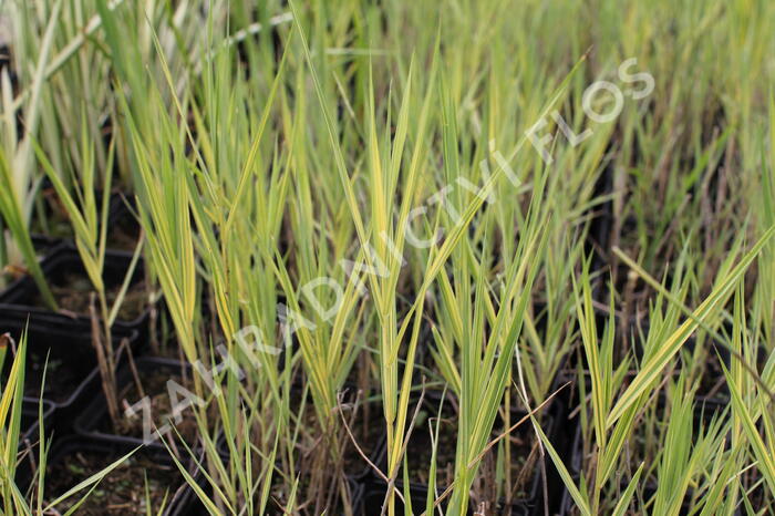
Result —
[{"label": "dense mass of yellow-green striped grass filling most of the photo", "polygon": [[[450,393],[454,471],[441,486],[452,451],[431,423],[428,494],[407,512],[513,502],[496,421],[530,425],[534,476],[557,468],[582,514],[769,507],[767,2],[14,6],[0,209],[18,249],[3,239],[0,258],[21,252],[44,291],[28,229],[45,174],[110,339],[106,190],[133,189],[180,353],[199,364],[206,482],[184,475],[210,513],[352,513],[355,378],[381,410],[385,514],[411,499],[430,385]],[[585,90],[632,56],[653,93],[624,91],[619,116],[592,123]],[[525,134],[540,121],[550,159]],[[545,431],[558,376],[578,388],[579,472]],[[707,395],[731,406],[699,421]]]}]

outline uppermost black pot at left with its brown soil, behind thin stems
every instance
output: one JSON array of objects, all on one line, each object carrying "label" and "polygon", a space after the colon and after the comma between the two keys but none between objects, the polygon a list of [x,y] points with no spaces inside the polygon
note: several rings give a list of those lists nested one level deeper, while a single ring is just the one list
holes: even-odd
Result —
[{"label": "uppermost black pot at left with its brown soil, behind thin stems", "polygon": [[[106,251],[103,280],[108,296],[111,292],[117,292],[124,282],[132,256],[128,251]],[[31,276],[25,276],[0,292],[0,313],[9,308],[17,308],[27,311],[32,322],[41,316],[91,322],[89,303],[93,288],[78,250],[70,244],[63,242],[41,261],[41,268],[54,297],[58,298],[60,311],[53,312],[45,307],[34,280]],[[141,258],[132,275],[130,288],[114,328],[135,330],[143,337],[147,334],[148,319],[149,310],[147,293],[144,290],[144,268]]]}]

